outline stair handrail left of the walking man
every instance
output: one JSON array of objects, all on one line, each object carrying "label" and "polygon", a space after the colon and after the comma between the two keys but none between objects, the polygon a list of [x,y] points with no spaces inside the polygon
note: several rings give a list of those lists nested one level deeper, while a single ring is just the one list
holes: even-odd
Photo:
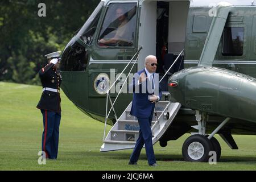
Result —
[{"label": "stair handrail left of the walking man", "polygon": [[[119,90],[118,94],[117,94],[117,97],[115,98],[114,102],[112,102],[111,100],[111,97],[110,97],[110,94],[109,94],[109,91],[112,89],[112,87],[115,85],[115,82],[117,82],[119,80],[119,78],[122,76],[123,72],[125,72],[126,68],[131,64],[131,62],[133,61],[134,57],[137,56],[137,58],[134,60],[134,63],[133,63],[133,66],[131,67],[130,71],[129,71],[129,74],[131,73],[131,71],[133,70],[133,67],[135,65],[135,63],[137,63],[137,60],[138,60],[138,57],[139,57],[139,54],[141,52],[141,49],[142,49],[142,46],[139,47],[138,51],[135,53],[135,55],[131,58],[131,60],[129,61],[129,63],[127,63],[126,67],[123,68],[123,71],[119,74],[119,76],[117,77],[117,79],[114,81],[114,83],[110,86],[110,88],[108,89],[108,91],[106,92],[106,115],[105,115],[105,126],[104,126],[104,136],[103,136],[103,141],[105,140],[105,135],[106,135],[106,122],[108,120],[108,117],[109,117],[109,114],[110,112],[112,111],[113,109],[113,112],[114,112],[114,117],[115,117],[115,120],[118,121],[117,119],[117,115],[115,113],[115,110],[114,110],[114,104],[115,104],[115,101],[117,101],[117,98],[119,97],[119,94],[121,93],[122,89],[123,89],[123,86],[125,85],[126,81],[127,81],[127,78],[125,79],[125,81],[123,82],[122,84],[122,87],[121,89]],[[108,113],[108,100],[110,102],[110,105],[111,105],[111,108],[109,110],[109,113]],[[107,114],[108,113],[108,114]]]}]

